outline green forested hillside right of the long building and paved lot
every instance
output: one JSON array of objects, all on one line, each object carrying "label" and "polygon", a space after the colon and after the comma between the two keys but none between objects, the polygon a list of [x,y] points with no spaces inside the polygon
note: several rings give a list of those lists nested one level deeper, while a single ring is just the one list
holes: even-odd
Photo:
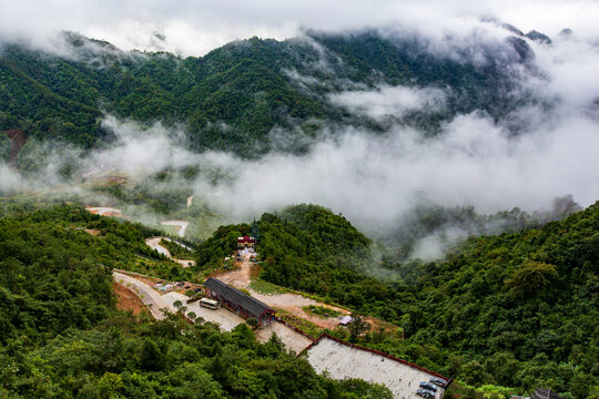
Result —
[{"label": "green forested hillside right of the long building and paved lot", "polygon": [[[470,238],[437,263],[375,257],[343,216],[314,205],[264,214],[258,225],[263,279],[403,328],[402,338],[370,331],[361,344],[471,386],[599,396],[599,204],[539,228]],[[221,227],[197,267],[247,228]]]}]

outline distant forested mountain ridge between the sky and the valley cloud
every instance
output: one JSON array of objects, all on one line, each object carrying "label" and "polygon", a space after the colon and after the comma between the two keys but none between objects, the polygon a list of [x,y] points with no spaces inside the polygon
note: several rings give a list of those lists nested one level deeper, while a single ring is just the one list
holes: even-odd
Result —
[{"label": "distant forested mountain ridge between the sky and the valley cloud", "polygon": [[[328,95],[380,84],[446,90],[447,106],[414,111],[402,119],[434,132],[456,113],[484,110],[496,119],[520,106],[514,73],[534,73],[531,48],[514,38],[486,53],[456,61],[433,55],[413,37],[306,32],[285,41],[232,42],[204,57],[122,52],[109,43],[64,34],[64,53],[26,45],[0,47],[0,129],[23,129],[31,137],[91,147],[110,141],[99,119],[105,113],[143,122],[183,123],[195,150],[305,151],[324,124],[385,123],[356,116]],[[325,122],[326,121],[326,122]],[[292,144],[276,144],[280,127]],[[283,147],[281,147],[283,145]]]}]

